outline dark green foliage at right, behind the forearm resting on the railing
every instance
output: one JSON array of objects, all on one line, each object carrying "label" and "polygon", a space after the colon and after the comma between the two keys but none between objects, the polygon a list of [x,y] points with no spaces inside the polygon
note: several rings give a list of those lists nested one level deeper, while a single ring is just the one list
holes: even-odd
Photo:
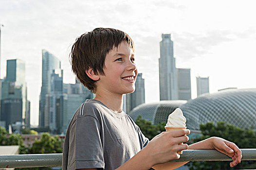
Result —
[{"label": "dark green foliage at right, behind the forearm resting on the railing", "polygon": [[[226,140],[234,142],[239,148],[256,148],[256,131],[253,129],[242,129],[231,124],[225,124],[223,121],[207,122],[200,125],[202,136],[195,138],[194,142],[198,142],[211,136],[222,137]],[[256,169],[253,161],[241,161],[235,168],[230,168],[229,162],[190,162],[190,170],[234,170],[234,169]]]}]

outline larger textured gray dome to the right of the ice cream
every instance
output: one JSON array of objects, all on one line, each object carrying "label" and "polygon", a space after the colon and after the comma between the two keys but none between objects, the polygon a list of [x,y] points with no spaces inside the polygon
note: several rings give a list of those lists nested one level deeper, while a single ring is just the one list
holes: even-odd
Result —
[{"label": "larger textured gray dome to the right of the ice cream", "polygon": [[187,127],[199,130],[208,121],[233,124],[241,128],[256,123],[256,89],[234,89],[205,94],[180,107],[187,119]]}]

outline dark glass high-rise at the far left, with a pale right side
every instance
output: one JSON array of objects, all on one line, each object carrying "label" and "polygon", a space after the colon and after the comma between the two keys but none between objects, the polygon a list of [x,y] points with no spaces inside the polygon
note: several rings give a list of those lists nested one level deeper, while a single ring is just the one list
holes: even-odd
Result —
[{"label": "dark glass high-rise at the far left, with a pale right side", "polygon": [[7,60],[6,78],[1,87],[1,121],[5,126],[20,122],[29,127],[25,62],[19,59]]}]

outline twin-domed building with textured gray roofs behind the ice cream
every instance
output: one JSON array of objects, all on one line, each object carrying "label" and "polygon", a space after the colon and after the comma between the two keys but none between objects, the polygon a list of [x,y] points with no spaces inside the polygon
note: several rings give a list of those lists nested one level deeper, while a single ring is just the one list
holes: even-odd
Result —
[{"label": "twin-domed building with textured gray roofs behind the ice cream", "polygon": [[168,115],[180,107],[187,119],[188,129],[199,130],[201,123],[208,121],[233,124],[241,128],[256,128],[256,89],[234,89],[205,94],[186,101],[160,101],[135,107],[130,117],[138,115],[153,124],[165,121]]}]

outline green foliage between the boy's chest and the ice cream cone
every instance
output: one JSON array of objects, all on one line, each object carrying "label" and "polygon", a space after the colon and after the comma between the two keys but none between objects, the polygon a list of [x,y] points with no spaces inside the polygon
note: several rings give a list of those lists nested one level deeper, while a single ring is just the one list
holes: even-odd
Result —
[{"label": "green foliage between the boy's chest and the ice cream cone", "polygon": [[149,140],[165,131],[165,122],[160,122],[157,125],[153,125],[151,121],[142,119],[142,116],[137,117],[136,124],[140,127],[141,132]]}]

